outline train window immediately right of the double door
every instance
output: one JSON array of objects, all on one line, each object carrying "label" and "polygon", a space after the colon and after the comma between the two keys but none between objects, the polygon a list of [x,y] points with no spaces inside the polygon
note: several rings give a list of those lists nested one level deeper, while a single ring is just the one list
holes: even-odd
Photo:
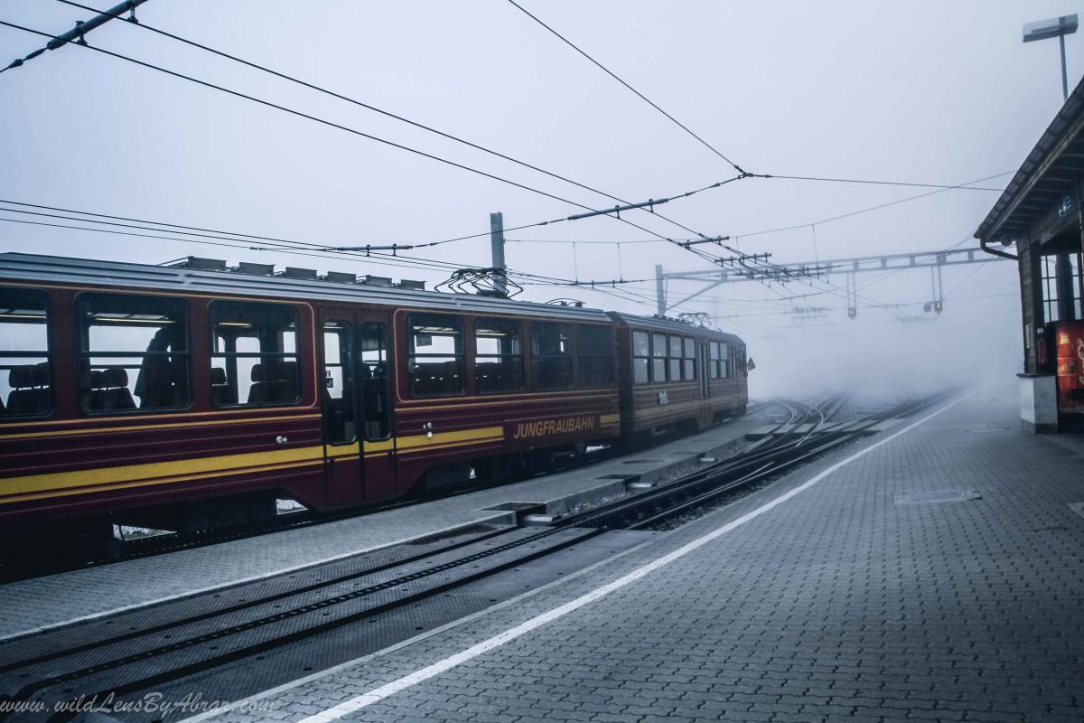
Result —
[{"label": "train window immediately right of the double door", "polygon": [[463,320],[442,314],[411,314],[406,320],[410,356],[406,370],[415,397],[459,395],[463,385]]}]

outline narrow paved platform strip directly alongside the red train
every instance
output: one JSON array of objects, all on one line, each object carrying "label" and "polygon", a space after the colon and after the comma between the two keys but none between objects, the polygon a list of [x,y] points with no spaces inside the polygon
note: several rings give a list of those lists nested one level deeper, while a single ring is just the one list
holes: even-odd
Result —
[{"label": "narrow paved platform strip directly alongside the red train", "polygon": [[473,526],[515,525],[651,485],[723,454],[764,424],[756,415],[699,435],[530,480],[480,489],[349,519],[250,537],[0,584],[0,641],[119,610],[251,582],[351,555],[453,534]]}]

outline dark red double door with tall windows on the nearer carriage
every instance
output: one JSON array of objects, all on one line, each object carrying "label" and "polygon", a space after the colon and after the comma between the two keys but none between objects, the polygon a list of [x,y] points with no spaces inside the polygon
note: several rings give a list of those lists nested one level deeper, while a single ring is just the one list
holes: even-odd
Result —
[{"label": "dark red double door with tall windows on the nearer carriage", "polygon": [[396,465],[387,325],[353,311],[326,310],[320,339],[327,503],[389,496]]}]

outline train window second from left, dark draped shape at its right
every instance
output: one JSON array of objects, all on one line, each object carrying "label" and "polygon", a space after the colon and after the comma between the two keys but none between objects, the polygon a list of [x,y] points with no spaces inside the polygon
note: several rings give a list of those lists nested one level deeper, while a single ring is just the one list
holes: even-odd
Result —
[{"label": "train window second from left, dark draped shape at its right", "polygon": [[154,296],[78,297],[79,403],[87,412],[189,405],[189,305]]}]

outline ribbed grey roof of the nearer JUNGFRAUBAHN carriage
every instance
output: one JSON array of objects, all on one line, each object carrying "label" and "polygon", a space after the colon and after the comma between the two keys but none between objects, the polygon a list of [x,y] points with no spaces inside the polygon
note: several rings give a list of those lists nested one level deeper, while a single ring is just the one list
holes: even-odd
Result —
[{"label": "ribbed grey roof of the nearer JUNGFRAUBAHN carriage", "polygon": [[178,294],[235,294],[273,299],[349,301],[447,312],[512,313],[525,317],[557,317],[576,321],[610,321],[610,317],[602,309],[516,301],[474,294],[451,294],[325,279],[258,275],[238,271],[207,271],[176,266],[73,259],[14,251],[0,254],[0,280],[119,286],[157,292],[175,291]]}]

